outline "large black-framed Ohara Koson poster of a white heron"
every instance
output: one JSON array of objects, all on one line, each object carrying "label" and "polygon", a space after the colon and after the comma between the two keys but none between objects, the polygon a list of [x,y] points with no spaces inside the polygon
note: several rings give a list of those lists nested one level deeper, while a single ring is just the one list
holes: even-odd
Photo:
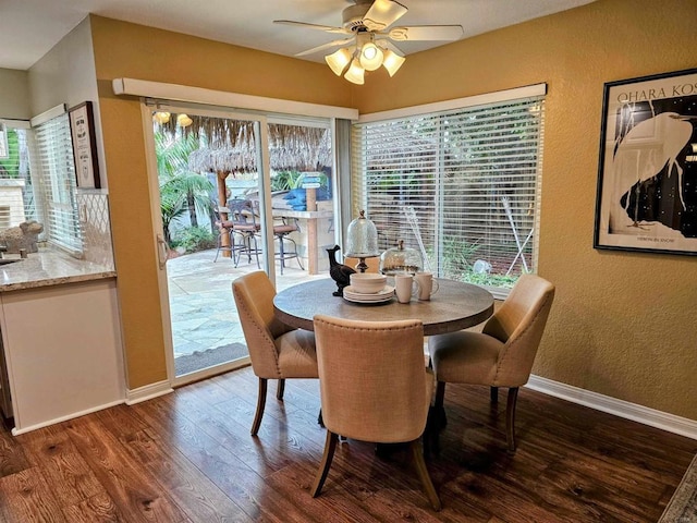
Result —
[{"label": "large black-framed Ohara Koson poster of a white heron", "polygon": [[697,255],[697,69],[604,84],[594,247]]}]

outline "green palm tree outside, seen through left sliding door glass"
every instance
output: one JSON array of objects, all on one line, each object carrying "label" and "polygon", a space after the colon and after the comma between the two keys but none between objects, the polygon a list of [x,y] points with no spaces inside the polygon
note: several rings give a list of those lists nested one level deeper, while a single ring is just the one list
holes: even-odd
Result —
[{"label": "green palm tree outside, seen through left sliding door glass", "polygon": [[188,211],[192,227],[198,227],[196,212],[210,212],[210,192],[213,185],[208,179],[188,169],[188,156],[199,148],[198,139],[187,136],[155,133],[160,211],[164,240],[171,244],[170,224]]}]

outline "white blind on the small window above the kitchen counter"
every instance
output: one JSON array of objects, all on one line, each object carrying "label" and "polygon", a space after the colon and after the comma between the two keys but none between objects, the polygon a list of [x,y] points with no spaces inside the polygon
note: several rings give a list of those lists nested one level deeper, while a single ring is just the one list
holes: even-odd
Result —
[{"label": "white blind on the small window above the kitchen counter", "polygon": [[44,229],[50,243],[73,254],[83,250],[77,215],[75,165],[68,113],[34,126],[34,187],[40,200]]}]

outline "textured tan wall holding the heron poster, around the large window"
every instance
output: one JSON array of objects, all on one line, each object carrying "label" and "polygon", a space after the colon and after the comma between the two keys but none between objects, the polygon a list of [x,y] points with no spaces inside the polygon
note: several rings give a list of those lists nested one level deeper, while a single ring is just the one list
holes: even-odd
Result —
[{"label": "textured tan wall holding the heron poster, around the large window", "polygon": [[366,75],[360,112],[546,82],[539,273],[558,285],[534,373],[697,419],[697,258],[592,248],[603,83],[697,68],[697,1],[598,2]]}]

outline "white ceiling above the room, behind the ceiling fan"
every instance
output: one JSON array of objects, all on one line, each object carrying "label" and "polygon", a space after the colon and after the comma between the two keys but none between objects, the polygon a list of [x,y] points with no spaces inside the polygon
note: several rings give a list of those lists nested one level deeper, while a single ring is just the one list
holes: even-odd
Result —
[{"label": "white ceiling above the room, behind the ceiling fan", "polygon": [[[595,0],[400,1],[408,12],[396,25],[460,24],[467,38]],[[351,4],[351,0],[0,0],[0,68],[29,69],[88,13],[292,57],[337,36],[273,20],[341,26],[341,12]],[[443,44],[400,42],[399,48],[409,54]],[[302,58],[320,62],[325,53]]]}]

